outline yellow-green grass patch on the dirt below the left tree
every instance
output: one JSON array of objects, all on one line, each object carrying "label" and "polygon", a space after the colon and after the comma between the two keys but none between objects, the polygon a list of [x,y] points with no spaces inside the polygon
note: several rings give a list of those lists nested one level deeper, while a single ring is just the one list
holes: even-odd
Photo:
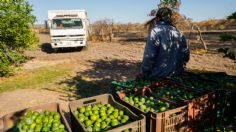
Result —
[{"label": "yellow-green grass patch on the dirt below the left tree", "polygon": [[4,78],[0,82],[0,93],[16,89],[56,87],[59,79],[68,76],[72,69],[64,65],[43,67],[20,75]]}]

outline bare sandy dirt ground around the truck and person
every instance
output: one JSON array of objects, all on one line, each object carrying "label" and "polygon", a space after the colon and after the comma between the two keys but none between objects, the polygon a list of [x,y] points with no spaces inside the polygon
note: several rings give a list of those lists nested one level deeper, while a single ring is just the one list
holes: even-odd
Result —
[{"label": "bare sandy dirt ground around the truck and person", "polygon": [[[135,78],[139,71],[145,46],[145,42],[89,42],[88,47],[82,51],[68,49],[53,53],[49,45],[49,36],[41,34],[39,37],[42,44],[41,49],[26,52],[31,60],[24,64],[24,71],[49,65],[71,64],[74,66],[74,72],[62,83],[69,85],[77,81],[76,87],[79,87],[77,93],[80,97],[108,92],[107,88],[110,87],[111,81]],[[222,43],[218,41],[206,42],[211,49],[210,52],[206,54],[192,53],[187,68],[236,75],[235,61],[224,58],[223,54],[215,52],[215,47]],[[11,111],[54,101],[62,103],[66,110],[68,101],[61,100],[60,94],[39,89],[2,93],[0,94],[0,117]]]}]

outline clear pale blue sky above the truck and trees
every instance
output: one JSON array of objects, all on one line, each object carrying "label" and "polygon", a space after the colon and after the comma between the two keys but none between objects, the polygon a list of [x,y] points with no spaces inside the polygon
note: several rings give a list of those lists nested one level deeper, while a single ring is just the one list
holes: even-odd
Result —
[{"label": "clear pale blue sky above the truck and trees", "polygon": [[[104,18],[121,23],[143,23],[151,17],[147,14],[155,9],[159,0],[28,0],[33,5],[33,14],[38,24],[47,19],[48,10],[85,9],[90,22]],[[180,13],[193,21],[224,19],[236,12],[236,0],[182,0]]]}]

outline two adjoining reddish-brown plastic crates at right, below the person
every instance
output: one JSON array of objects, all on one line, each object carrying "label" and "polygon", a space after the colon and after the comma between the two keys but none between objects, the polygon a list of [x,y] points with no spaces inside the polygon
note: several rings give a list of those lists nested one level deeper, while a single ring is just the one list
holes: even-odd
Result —
[{"label": "two adjoining reddish-brown plastic crates at right, below the person", "polygon": [[[190,78],[188,78],[190,79]],[[202,79],[204,80],[204,79]],[[213,81],[208,81],[205,80],[206,82],[208,82],[212,87],[209,87],[208,89],[214,89],[216,87],[216,84]],[[113,88],[114,85],[116,85],[117,87],[119,87],[120,84],[125,84],[124,82],[120,82],[120,83],[113,83]],[[133,82],[135,83],[135,82]],[[119,84],[119,85],[117,85]],[[158,96],[156,95],[153,91],[157,90],[158,91],[158,87],[161,87],[162,85],[170,85],[170,86],[174,86],[174,87],[178,87],[180,89],[183,89],[185,91],[189,91],[192,92],[194,94],[197,95],[197,97],[190,99],[190,100],[179,100],[179,101],[174,101],[170,98],[167,97],[163,97],[163,96]],[[214,85],[213,85],[214,84]],[[196,85],[197,86],[197,85]],[[164,132],[164,131],[179,131],[177,129],[172,129],[172,128],[178,128],[177,126],[182,126],[183,130],[185,131],[202,131],[204,130],[205,127],[207,126],[213,126],[215,124],[215,113],[216,113],[216,103],[215,103],[215,92],[211,91],[211,90],[204,90],[203,88],[200,89],[196,89],[195,85],[191,86],[191,84],[189,85],[185,85],[184,82],[181,82],[179,80],[176,80],[176,78],[168,78],[168,79],[160,79],[158,81],[153,81],[152,83],[148,84],[148,85],[144,85],[142,87],[132,87],[132,88],[123,88],[122,89],[116,89],[118,91],[116,91],[116,96],[118,98],[118,100],[125,106],[127,106],[128,108],[130,108],[132,111],[135,111],[136,113],[139,114],[144,114],[147,118],[147,123],[146,124],[150,124],[150,126],[147,126],[147,131],[156,131],[156,132]],[[142,93],[144,91],[149,91],[153,96],[161,98],[161,99],[165,99],[170,101],[173,104],[181,104],[179,105],[178,109],[176,110],[168,110],[164,113],[145,113],[142,112],[140,109],[136,108],[133,105],[128,104],[127,102],[125,102],[124,100],[122,100],[122,94],[121,93],[129,93],[132,91],[142,91]],[[187,110],[185,112],[187,112],[186,117],[184,118],[184,114],[179,114],[179,113],[184,113],[183,108],[186,108]],[[174,114],[174,115],[179,115],[176,117],[173,117],[172,119],[168,117],[169,114],[173,112],[177,112],[178,114]],[[167,116],[165,116],[167,115]],[[166,118],[167,117],[167,118]],[[160,121],[158,121],[158,119],[162,120],[162,123],[160,123]],[[163,120],[164,119],[164,120]],[[166,120],[167,119],[167,120]],[[176,122],[176,121],[179,122]],[[181,120],[181,121],[180,121]],[[159,124],[157,125],[156,123],[159,122]],[[185,123],[183,123],[185,122]],[[186,123],[187,122],[187,123]],[[172,124],[171,124],[172,123]],[[171,125],[168,125],[171,124]],[[184,124],[184,125],[183,125]],[[174,126],[171,129],[168,128],[168,126]],[[187,128],[187,129],[186,129]]]}]

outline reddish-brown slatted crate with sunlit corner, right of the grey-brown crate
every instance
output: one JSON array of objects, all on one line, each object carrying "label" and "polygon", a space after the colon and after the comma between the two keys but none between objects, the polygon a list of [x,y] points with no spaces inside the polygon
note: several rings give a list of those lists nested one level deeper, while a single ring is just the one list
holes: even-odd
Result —
[{"label": "reddish-brown slatted crate with sunlit corner, right of the grey-brown crate", "polygon": [[137,91],[118,91],[116,94],[118,97],[117,100],[123,105],[127,106],[129,109],[134,111],[136,114],[143,114],[146,116],[146,124],[148,132],[177,132],[177,131],[186,131],[187,130],[187,105],[177,105],[172,104],[171,102],[158,98],[162,101],[166,101],[171,105],[177,105],[177,108],[167,110],[165,112],[143,112],[139,108],[125,102],[123,98],[126,94],[133,92],[137,95],[146,95],[149,96],[151,93],[148,93],[145,89],[139,89]]}]

